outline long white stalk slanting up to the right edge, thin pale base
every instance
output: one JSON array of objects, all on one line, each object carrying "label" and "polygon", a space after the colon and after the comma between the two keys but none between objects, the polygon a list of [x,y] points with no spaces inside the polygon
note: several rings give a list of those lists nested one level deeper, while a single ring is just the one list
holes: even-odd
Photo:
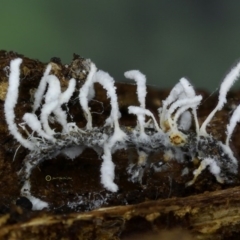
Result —
[{"label": "long white stalk slanting up to the right edge, thin pale base", "polygon": [[231,86],[234,84],[234,82],[239,78],[240,76],[240,62],[231,69],[231,71],[227,74],[227,76],[224,78],[219,91],[219,97],[218,97],[218,104],[214,108],[214,110],[208,115],[206,120],[203,122],[201,128],[200,128],[200,134],[203,136],[207,136],[206,127],[209,124],[209,122],[212,120],[213,116],[217,111],[220,111],[224,104],[226,103],[227,99],[227,93]]}]

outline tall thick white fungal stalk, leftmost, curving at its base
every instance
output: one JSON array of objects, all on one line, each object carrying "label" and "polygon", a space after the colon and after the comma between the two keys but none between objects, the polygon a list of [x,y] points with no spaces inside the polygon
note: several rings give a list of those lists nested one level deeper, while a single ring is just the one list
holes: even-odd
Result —
[{"label": "tall thick white fungal stalk, leftmost, curving at its base", "polygon": [[7,96],[4,104],[4,113],[8,129],[10,133],[25,147],[29,150],[34,150],[35,146],[29,140],[23,138],[23,136],[18,131],[18,127],[15,123],[15,112],[14,108],[17,104],[19,95],[19,82],[20,82],[20,65],[22,59],[17,58],[10,63],[10,75],[9,75],[9,87],[7,91]]}]

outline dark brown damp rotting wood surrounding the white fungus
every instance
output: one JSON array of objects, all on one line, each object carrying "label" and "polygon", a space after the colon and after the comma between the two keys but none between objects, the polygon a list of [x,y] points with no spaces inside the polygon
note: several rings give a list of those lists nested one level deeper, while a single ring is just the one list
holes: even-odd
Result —
[{"label": "dark brown damp rotting wood surrounding the white fungus", "polygon": [[[126,168],[130,161],[137,161],[134,148],[113,154],[115,182],[119,186],[117,193],[108,192],[100,184],[101,159],[91,149],[86,149],[73,161],[59,155],[42,162],[31,174],[32,193],[49,202],[50,207],[42,211],[30,210],[20,198],[22,183],[17,175],[28,150],[19,147],[9,134],[4,116],[9,63],[16,57],[23,58],[20,94],[15,108],[17,123],[22,122],[25,112],[31,112],[32,96],[46,67],[38,60],[0,51],[0,239],[134,239],[137,234],[142,238],[142,234],[153,234],[151,236],[158,239],[158,234],[166,232],[168,236],[168,230],[172,229],[177,229],[183,239],[238,239],[239,174],[234,184],[220,184],[206,169],[193,186],[185,187],[199,163],[180,164],[165,159],[163,171],[156,173],[147,168],[142,183],[133,183],[128,179]],[[76,77],[72,71],[74,61],[69,63],[71,68],[58,58],[51,61],[55,64],[53,74],[60,79],[61,87],[66,88],[68,79]],[[81,76],[77,77],[81,87]],[[136,86],[121,82],[121,79],[115,85],[122,114],[120,125],[134,128],[136,117],[129,115],[127,108],[138,105]],[[90,102],[93,125],[102,126],[110,114],[111,105],[100,85],[95,84],[95,91],[94,101]],[[157,117],[157,109],[169,90],[148,87],[147,91],[146,108]],[[209,96],[210,93],[204,90],[197,93],[203,96],[198,109],[201,123],[216,106],[217,95]],[[239,91],[230,92],[224,109],[217,112],[209,124],[208,132],[216,139],[224,141],[229,118],[240,102],[239,94]],[[77,93],[73,98],[69,113],[79,127],[84,127],[86,120]],[[231,141],[237,159],[239,131],[237,126]],[[161,152],[150,156],[152,163],[159,159],[164,159]],[[184,167],[188,167],[190,174],[182,174]]]}]

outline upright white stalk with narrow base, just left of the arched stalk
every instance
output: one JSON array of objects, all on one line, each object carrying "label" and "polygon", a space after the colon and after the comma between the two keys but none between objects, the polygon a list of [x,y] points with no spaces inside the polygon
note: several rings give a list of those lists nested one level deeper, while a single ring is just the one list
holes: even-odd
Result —
[{"label": "upright white stalk with narrow base, just left of the arched stalk", "polygon": [[89,111],[88,102],[91,100],[91,98],[94,97],[93,76],[96,73],[96,71],[97,71],[96,65],[93,62],[91,62],[90,71],[87,76],[87,79],[86,79],[85,83],[83,84],[83,86],[81,87],[80,92],[79,92],[79,102],[80,102],[80,105],[81,105],[81,107],[85,113],[86,119],[87,119],[86,128],[88,130],[92,129],[92,115]]}]

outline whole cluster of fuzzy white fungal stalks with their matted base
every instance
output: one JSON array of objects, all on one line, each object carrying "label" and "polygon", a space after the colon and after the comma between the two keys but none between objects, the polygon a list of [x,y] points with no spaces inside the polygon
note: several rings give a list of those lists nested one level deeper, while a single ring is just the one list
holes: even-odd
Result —
[{"label": "whole cluster of fuzzy white fungal stalks with their matted base", "polygon": [[[101,183],[111,192],[118,191],[118,186],[114,183],[115,165],[112,161],[112,153],[118,149],[127,148],[129,144],[134,145],[139,154],[136,166],[131,164],[127,169],[132,181],[141,182],[142,166],[146,164],[151,152],[158,151],[162,151],[166,157],[180,162],[184,161],[186,155],[192,159],[198,157],[200,166],[193,172],[194,178],[186,183],[187,186],[193,184],[198,175],[207,167],[218,182],[230,181],[228,174],[236,173],[238,163],[229,147],[229,141],[237,122],[240,120],[240,107],[238,106],[235,109],[230,123],[227,125],[225,144],[208,134],[206,127],[214,114],[221,110],[226,103],[226,94],[240,75],[240,63],[230,71],[222,82],[218,105],[209,114],[202,126],[199,126],[197,118],[197,108],[201,103],[202,96],[196,95],[193,86],[187,79],[181,78],[179,83],[173,87],[169,96],[162,101],[162,107],[158,109],[159,120],[157,120],[154,114],[146,109],[145,75],[138,70],[125,72],[126,78],[133,79],[136,82],[140,105],[129,106],[128,108],[129,114],[137,116],[137,125],[130,131],[126,126],[120,126],[119,124],[121,113],[114,79],[108,73],[97,70],[93,62],[87,61],[90,70],[85,83],[80,89],[76,89],[76,80],[72,78],[64,92],[61,90],[60,80],[55,75],[50,74],[51,64],[47,65],[34,95],[33,110],[25,113],[22,118],[23,124],[21,126],[25,129],[27,138],[20,133],[14,113],[19,95],[22,59],[17,58],[10,63],[9,87],[4,112],[10,133],[22,146],[30,150],[30,154],[25,158],[24,167],[19,174],[23,175],[25,179],[21,193],[32,201],[33,209],[42,209],[47,207],[48,203],[31,195],[29,178],[32,169],[39,162],[60,153],[74,159],[86,147],[102,153]],[[92,115],[88,106],[89,101],[95,97],[94,83],[103,86],[111,104],[110,116],[101,129],[93,126]],[[83,129],[79,128],[75,122],[68,122],[67,114],[62,108],[63,104],[69,103],[75,91],[79,91],[79,104],[87,121],[86,127]],[[36,115],[37,111],[40,112],[39,116]],[[146,116],[150,117],[148,122],[146,122]],[[50,121],[58,122],[62,126],[62,131],[55,132],[50,127]],[[191,129],[192,122],[194,122],[195,130]],[[31,133],[26,130],[25,125],[32,130]],[[212,154],[212,149],[208,146],[209,143],[218,147],[219,155],[222,156],[221,159]],[[189,152],[187,152],[186,146],[190,149]],[[156,171],[159,171],[159,169],[156,168]]]}]

